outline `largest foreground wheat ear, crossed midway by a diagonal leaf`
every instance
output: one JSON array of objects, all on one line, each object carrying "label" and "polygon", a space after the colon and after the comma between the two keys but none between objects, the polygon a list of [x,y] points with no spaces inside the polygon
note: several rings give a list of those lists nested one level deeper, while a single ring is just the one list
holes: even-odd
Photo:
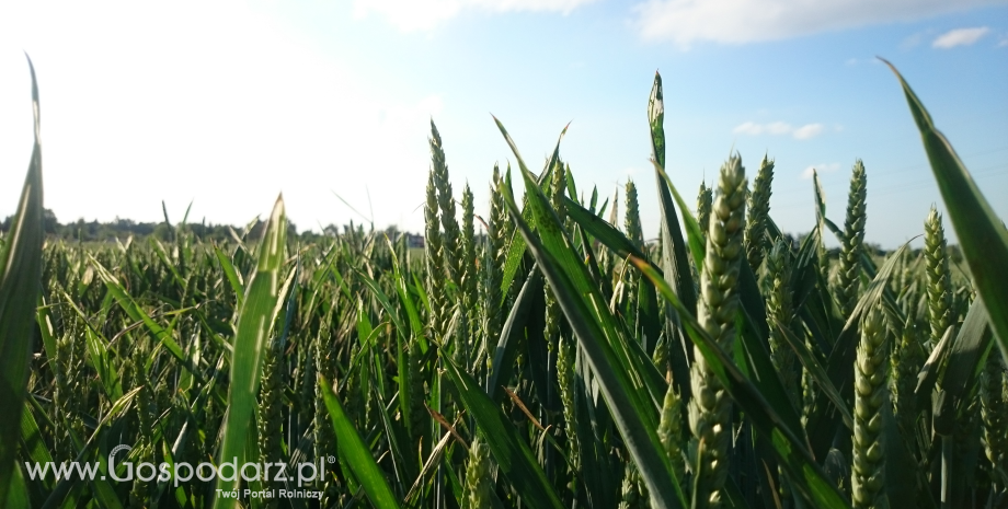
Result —
[{"label": "largest foreground wheat ear, crossed midway by a diagonal leaf", "polygon": [[[700,275],[697,319],[700,326],[729,355],[735,340],[735,313],[738,310],[738,271],[743,261],[745,229],[745,169],[732,155],[721,166],[718,189],[711,207],[707,255]],[[694,397],[689,404],[689,428],[707,447],[698,453],[700,474],[694,500],[700,508],[721,507],[728,478],[732,433],[732,402],[721,382],[694,347],[696,361],[690,367]]]}]

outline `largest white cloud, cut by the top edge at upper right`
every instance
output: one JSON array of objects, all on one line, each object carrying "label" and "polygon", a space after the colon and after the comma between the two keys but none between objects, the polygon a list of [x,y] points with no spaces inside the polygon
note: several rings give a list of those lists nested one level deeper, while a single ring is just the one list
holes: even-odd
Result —
[{"label": "largest white cloud, cut by the top edge at upper right", "polygon": [[646,0],[634,7],[641,35],[728,44],[784,39],[871,24],[913,21],[1008,0]]}]

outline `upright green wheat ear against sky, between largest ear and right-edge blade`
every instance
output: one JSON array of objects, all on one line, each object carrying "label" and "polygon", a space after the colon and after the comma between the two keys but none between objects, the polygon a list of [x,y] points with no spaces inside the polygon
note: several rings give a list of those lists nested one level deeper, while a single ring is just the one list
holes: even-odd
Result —
[{"label": "upright green wheat ear against sky, between largest ear and right-edge blade", "polygon": [[844,239],[837,267],[837,302],[844,316],[850,316],[858,302],[859,275],[861,273],[861,247],[864,242],[866,205],[868,197],[868,174],[864,164],[857,160],[850,175],[850,193],[847,196],[847,220],[844,222]]}]

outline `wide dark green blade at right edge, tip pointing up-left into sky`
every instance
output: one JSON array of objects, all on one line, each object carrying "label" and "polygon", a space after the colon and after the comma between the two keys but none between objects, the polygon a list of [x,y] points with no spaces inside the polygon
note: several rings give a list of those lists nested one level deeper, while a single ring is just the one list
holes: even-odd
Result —
[{"label": "wide dark green blade at right edge, tip pointing up-left into sky", "polygon": [[1001,356],[1008,362],[1008,285],[1004,281],[1004,275],[1008,274],[1008,230],[973,182],[952,144],[935,128],[931,115],[910,85],[892,63],[880,60],[892,69],[903,86],[963,256],[987,306]]}]

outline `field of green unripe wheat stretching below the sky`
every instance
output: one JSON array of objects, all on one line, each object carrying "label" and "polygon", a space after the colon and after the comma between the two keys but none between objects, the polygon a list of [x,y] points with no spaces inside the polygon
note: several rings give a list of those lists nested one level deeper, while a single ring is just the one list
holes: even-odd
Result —
[{"label": "field of green unripe wheat stretching below the sky", "polygon": [[[495,119],[516,167],[493,167],[477,211],[432,122],[422,253],[359,227],[287,239],[283,198],[261,235],[226,242],[185,221],[167,241],[46,240],[33,89],[0,251],[0,501],[1008,507],[1008,232],[896,77],[961,263],[937,209],[923,250],[868,251],[871,161],[828,210],[814,180],[801,240],[774,222],[772,159],[732,154],[684,196],[657,74],[657,196],[579,189],[560,141],[534,171]],[[179,467],[203,463],[220,475]]]}]

